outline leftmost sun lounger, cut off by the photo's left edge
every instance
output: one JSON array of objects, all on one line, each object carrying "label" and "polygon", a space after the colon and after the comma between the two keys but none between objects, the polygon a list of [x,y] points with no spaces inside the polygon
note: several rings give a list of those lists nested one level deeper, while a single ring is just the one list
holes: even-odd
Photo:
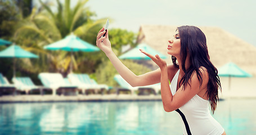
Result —
[{"label": "leftmost sun lounger, cut off by the photo's left edge", "polygon": [[2,73],[0,73],[0,96],[7,95],[12,93],[15,95],[16,88],[13,84],[10,84],[6,77],[3,77]]}]

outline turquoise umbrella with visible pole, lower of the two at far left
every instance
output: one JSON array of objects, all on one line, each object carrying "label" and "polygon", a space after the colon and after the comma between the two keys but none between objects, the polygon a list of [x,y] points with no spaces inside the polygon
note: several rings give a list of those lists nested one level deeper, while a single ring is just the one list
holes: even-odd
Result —
[{"label": "turquoise umbrella with visible pole, lower of the two at far left", "polygon": [[5,50],[0,52],[0,57],[13,58],[14,59],[14,78],[15,78],[15,63],[16,58],[38,58],[37,55],[34,55],[31,52],[23,50],[20,46],[15,44],[7,47]]}]

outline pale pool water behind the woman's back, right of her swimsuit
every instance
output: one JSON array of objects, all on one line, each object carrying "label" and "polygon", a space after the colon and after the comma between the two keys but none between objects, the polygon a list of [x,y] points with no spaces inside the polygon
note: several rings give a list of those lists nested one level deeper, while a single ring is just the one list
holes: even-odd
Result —
[{"label": "pale pool water behind the woman's back, right of her swimsuit", "polygon": [[231,99],[217,105],[214,118],[227,134],[256,134],[256,99]]}]

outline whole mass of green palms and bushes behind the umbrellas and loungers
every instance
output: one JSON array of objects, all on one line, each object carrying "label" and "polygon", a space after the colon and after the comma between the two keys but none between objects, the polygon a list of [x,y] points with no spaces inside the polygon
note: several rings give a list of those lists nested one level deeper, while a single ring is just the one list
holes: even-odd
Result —
[{"label": "whole mass of green palms and bushes behind the umbrellas and loungers", "polygon": [[[74,33],[82,40],[96,45],[98,30],[106,19],[93,20],[96,16],[89,7],[88,0],[80,0],[71,8],[70,1],[61,3],[56,0],[56,10],[51,2],[41,2],[41,7],[31,7],[31,0],[0,1],[0,37],[15,42],[24,50],[35,53],[39,59],[17,59],[16,76],[29,76],[35,84],[40,84],[37,75],[41,72],[57,72],[66,76],[70,61],[73,60],[74,73],[91,74],[98,83],[116,86],[113,80],[116,70],[104,52],[70,52],[44,50],[43,47]],[[54,11],[54,12],[53,12]],[[123,29],[110,29],[109,38],[116,54],[120,54],[123,45],[135,46],[137,34]],[[5,49],[0,47],[0,50]],[[102,61],[104,61],[102,63]],[[123,61],[135,74],[143,74],[149,69],[132,61]],[[9,80],[12,78],[12,59],[0,60],[0,72]],[[109,77],[110,74],[110,77]]]}]

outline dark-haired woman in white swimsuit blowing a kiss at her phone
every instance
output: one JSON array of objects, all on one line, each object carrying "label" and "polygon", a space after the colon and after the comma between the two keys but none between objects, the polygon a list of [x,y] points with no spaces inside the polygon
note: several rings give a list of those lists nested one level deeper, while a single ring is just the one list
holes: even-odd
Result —
[{"label": "dark-haired woman in white swimsuit blowing a kiss at her phone", "polygon": [[[101,37],[106,33],[106,37]],[[173,64],[167,63],[158,55],[149,56],[159,69],[142,75],[135,75],[111,50],[108,31],[102,28],[97,35],[97,46],[105,52],[118,73],[131,86],[147,86],[161,82],[161,98],[164,110],[177,111],[183,120],[183,134],[226,134],[222,126],[210,115],[218,101],[218,88],[221,83],[218,71],[210,62],[206,38],[195,26],[180,26],[173,38],[168,40],[168,54]],[[169,86],[169,81],[171,81]]]}]

